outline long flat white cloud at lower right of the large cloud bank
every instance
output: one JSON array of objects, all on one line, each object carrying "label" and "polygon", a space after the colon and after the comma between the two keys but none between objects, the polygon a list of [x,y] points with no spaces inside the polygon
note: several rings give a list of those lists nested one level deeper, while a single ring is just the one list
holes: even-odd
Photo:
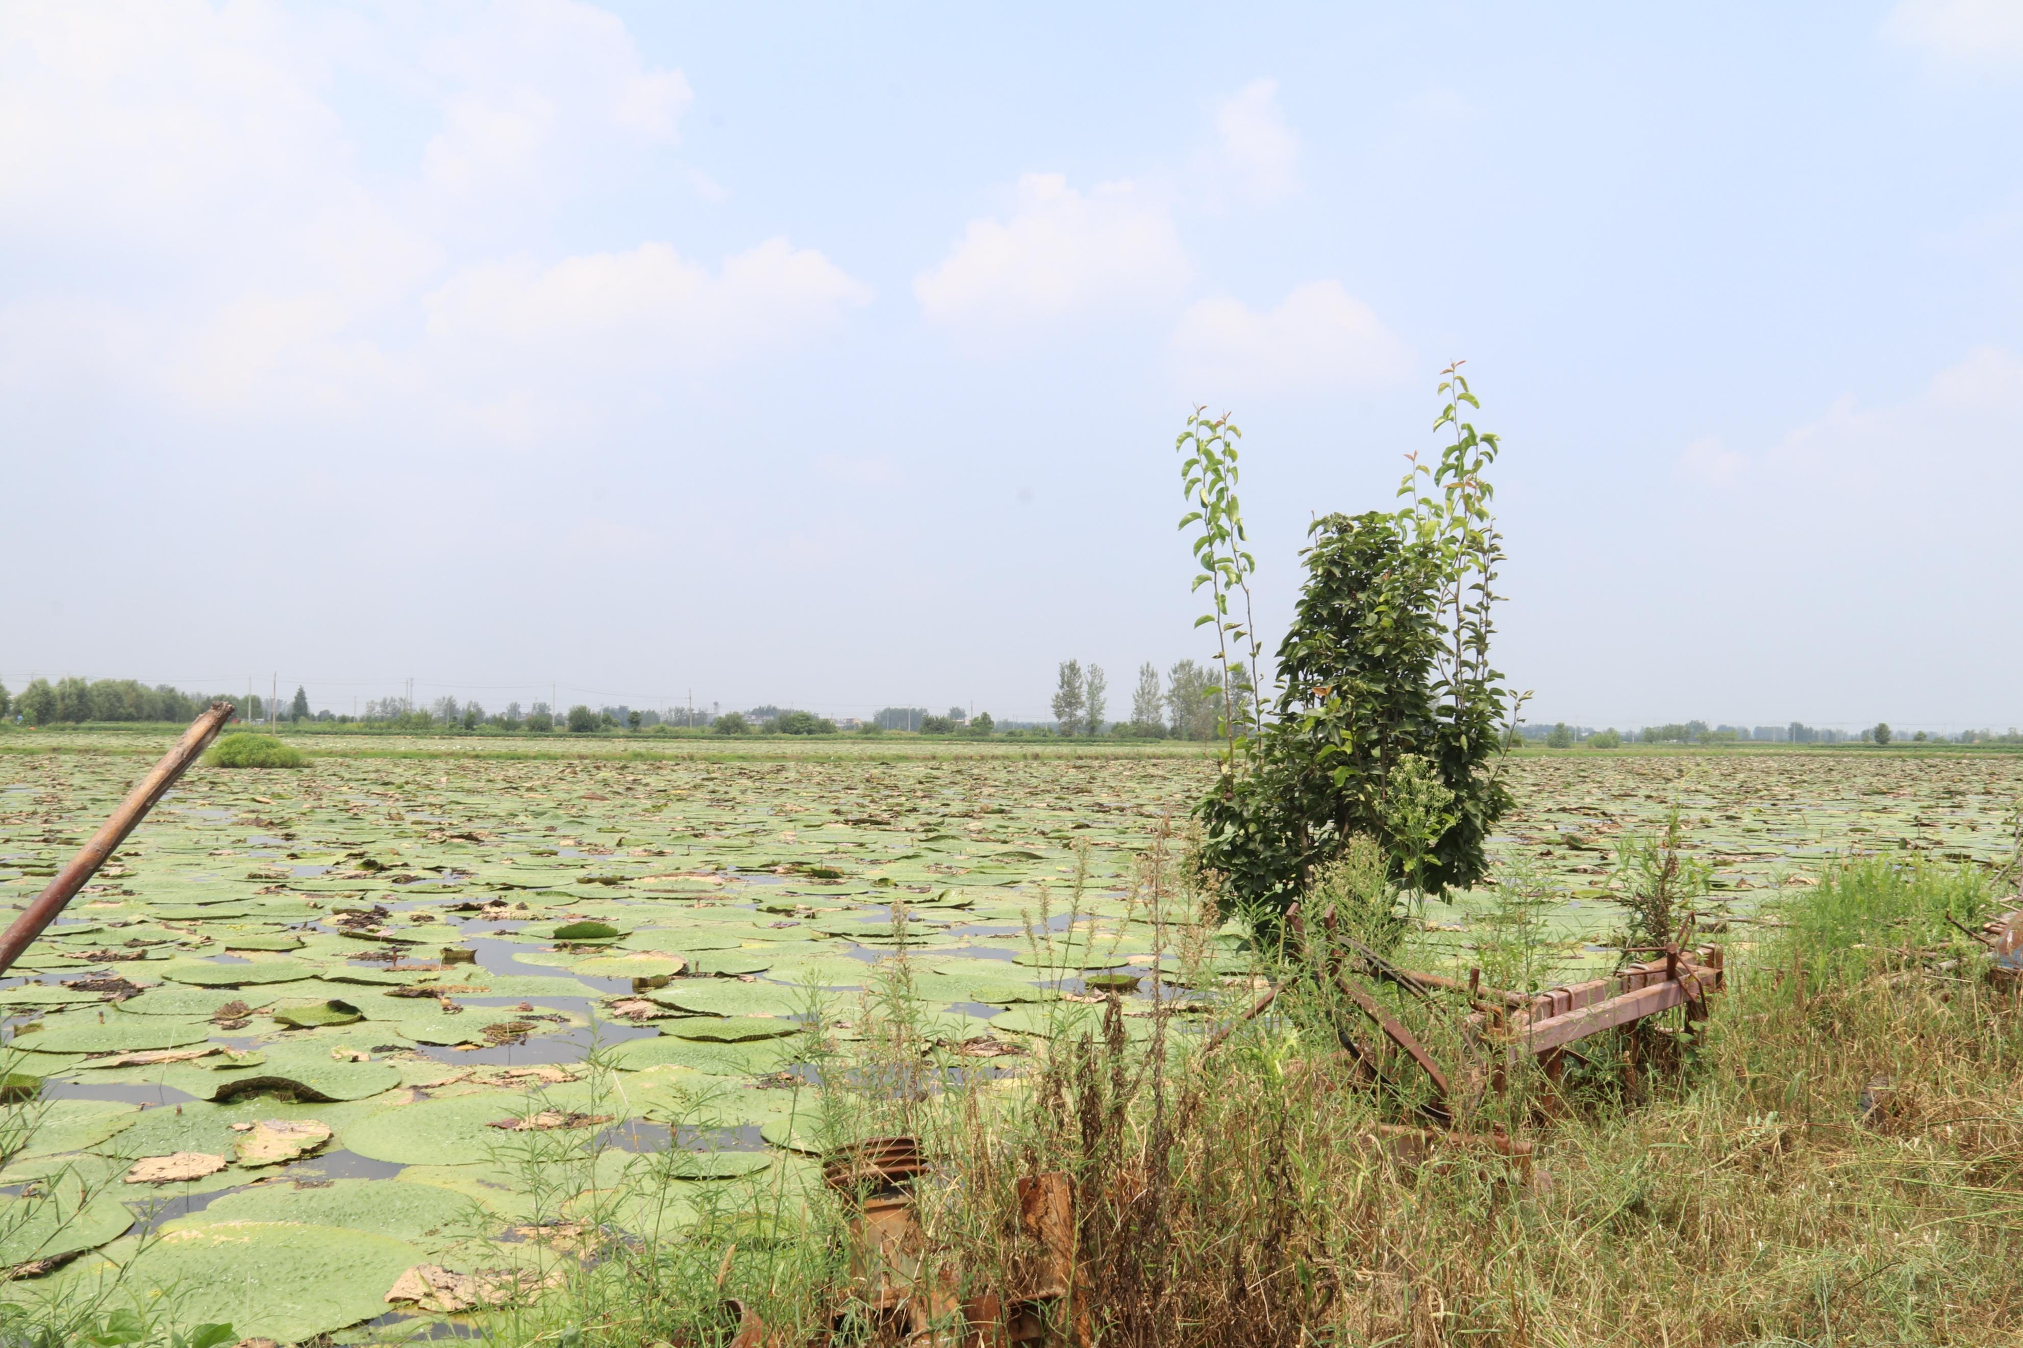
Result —
[{"label": "long flat white cloud at lower right of the large cloud bank", "polygon": [[488,263],[423,301],[429,333],[486,346],[532,344],[546,356],[716,364],[835,327],[870,301],[860,281],[785,238],[724,259],[718,273],[664,243],[568,257],[552,267]]}]

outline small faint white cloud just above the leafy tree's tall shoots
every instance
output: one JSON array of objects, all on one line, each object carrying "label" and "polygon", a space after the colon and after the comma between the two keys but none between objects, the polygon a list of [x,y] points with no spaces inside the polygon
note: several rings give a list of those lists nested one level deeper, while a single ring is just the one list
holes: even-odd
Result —
[{"label": "small faint white cloud just above the leafy tree's tall shoots", "polygon": [[1181,315],[1169,354],[1196,398],[1382,388],[1410,370],[1406,344],[1339,281],[1297,285],[1262,313],[1204,299]]}]

